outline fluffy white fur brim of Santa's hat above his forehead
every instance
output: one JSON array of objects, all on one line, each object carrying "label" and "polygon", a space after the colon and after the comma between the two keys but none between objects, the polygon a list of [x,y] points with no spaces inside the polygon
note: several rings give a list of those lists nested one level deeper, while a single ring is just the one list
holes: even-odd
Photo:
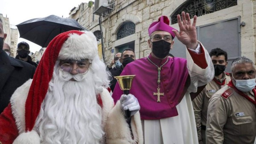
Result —
[{"label": "fluffy white fur brim of Santa's hat above his forehead", "polygon": [[98,45],[95,35],[90,31],[83,31],[84,34],[70,34],[70,37],[64,42],[58,55],[59,60],[64,59],[89,59],[98,55]]}]

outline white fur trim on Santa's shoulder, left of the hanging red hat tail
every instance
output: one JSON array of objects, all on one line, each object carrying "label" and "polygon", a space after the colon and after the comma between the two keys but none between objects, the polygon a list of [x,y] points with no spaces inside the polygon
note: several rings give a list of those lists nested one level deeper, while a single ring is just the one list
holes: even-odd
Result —
[{"label": "white fur trim on Santa's shoulder, left of the hanging red hat tail", "polygon": [[22,86],[18,87],[10,99],[12,115],[15,118],[19,133],[25,132],[25,103],[31,83],[32,79],[29,79]]}]

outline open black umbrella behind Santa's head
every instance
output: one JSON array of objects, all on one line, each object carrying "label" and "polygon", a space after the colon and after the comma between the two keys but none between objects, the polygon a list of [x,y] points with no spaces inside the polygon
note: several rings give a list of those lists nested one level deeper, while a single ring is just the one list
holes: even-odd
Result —
[{"label": "open black umbrella behind Santa's head", "polygon": [[84,30],[74,19],[50,15],[43,18],[34,18],[17,25],[20,37],[47,47],[49,42],[58,34],[70,30]]}]

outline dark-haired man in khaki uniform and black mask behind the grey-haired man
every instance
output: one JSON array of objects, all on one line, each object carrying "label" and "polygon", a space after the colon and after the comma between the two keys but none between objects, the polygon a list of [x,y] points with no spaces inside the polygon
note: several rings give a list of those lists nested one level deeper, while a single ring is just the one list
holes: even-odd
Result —
[{"label": "dark-haired man in khaki uniform and black mask behind the grey-haired man", "polygon": [[209,55],[214,66],[215,77],[192,101],[199,144],[205,144],[205,128],[209,99],[215,92],[217,92],[230,81],[229,74],[224,72],[225,68],[227,67],[227,52],[220,48],[216,48],[212,49]]}]

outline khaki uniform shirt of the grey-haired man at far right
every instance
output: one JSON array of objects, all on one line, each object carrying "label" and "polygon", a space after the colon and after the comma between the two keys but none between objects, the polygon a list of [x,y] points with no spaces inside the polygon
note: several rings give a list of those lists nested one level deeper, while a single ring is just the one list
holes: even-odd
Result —
[{"label": "khaki uniform shirt of the grey-haired man at far right", "polygon": [[[248,96],[252,98],[252,95],[251,92]],[[256,106],[253,103],[230,86],[224,86],[210,98],[207,144],[253,144],[255,136]]]}]

